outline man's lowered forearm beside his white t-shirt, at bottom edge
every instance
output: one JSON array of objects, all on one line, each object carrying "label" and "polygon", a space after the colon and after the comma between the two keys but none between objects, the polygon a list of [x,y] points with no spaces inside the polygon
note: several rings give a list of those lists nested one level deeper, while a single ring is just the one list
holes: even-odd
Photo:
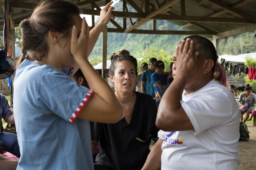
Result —
[{"label": "man's lowered forearm beside his white t-shirt, at bottom edge", "polygon": [[163,140],[159,139],[152,147],[142,170],[160,170]]}]

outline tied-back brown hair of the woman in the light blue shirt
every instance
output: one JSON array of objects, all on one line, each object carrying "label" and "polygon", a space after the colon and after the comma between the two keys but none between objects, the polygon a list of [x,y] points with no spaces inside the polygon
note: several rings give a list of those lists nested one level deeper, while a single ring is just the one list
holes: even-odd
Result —
[{"label": "tied-back brown hair of the woman in the light blue shirt", "polygon": [[46,0],[39,4],[29,19],[23,20],[21,27],[22,56],[17,62],[17,67],[25,59],[44,59],[48,53],[46,35],[51,31],[64,33],[69,36],[69,28],[74,25],[73,15],[81,14],[81,10],[73,3],[62,0]]}]

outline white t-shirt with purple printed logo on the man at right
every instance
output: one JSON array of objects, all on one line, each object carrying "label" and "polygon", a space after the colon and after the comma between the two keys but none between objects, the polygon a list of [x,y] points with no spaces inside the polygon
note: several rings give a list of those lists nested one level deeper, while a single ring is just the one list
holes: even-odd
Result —
[{"label": "white t-shirt with purple printed logo on the man at right", "polygon": [[161,170],[237,170],[240,111],[234,94],[215,80],[182,96],[192,131],[164,132]]}]

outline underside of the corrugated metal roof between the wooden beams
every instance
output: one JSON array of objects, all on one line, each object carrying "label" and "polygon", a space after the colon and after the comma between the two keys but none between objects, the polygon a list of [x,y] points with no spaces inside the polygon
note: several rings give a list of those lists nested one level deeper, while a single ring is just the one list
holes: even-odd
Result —
[{"label": "underside of the corrugated metal roof between the wooden beams", "polygon": [[[67,0],[69,2],[77,3],[80,8],[84,9],[91,9],[91,3],[93,3],[92,0]],[[121,0],[122,1],[122,0]],[[17,19],[21,18],[24,19],[25,17],[29,17],[33,10],[29,9],[21,9],[21,8],[15,8],[13,7],[15,4],[17,5],[19,2],[21,3],[30,3],[30,4],[36,4],[37,0],[29,0],[29,1],[16,1],[16,0],[9,0],[10,7],[11,7],[11,13],[13,16],[13,19],[16,21]],[[137,7],[141,6],[141,2],[145,2],[142,0],[129,0],[128,2],[134,2]],[[165,0],[149,0],[150,3],[150,10],[154,12],[154,2],[157,2],[158,5],[161,5],[163,3],[169,3]],[[172,1],[173,2],[173,1]],[[191,31],[210,31],[215,33],[221,33],[225,31],[229,31],[232,29],[248,26],[251,23],[256,23],[256,1],[242,1],[242,0],[185,0],[185,9],[186,9],[186,16],[181,16],[181,3],[179,1],[175,1],[176,4],[170,9],[169,15],[172,16],[172,13],[176,14],[179,19],[177,20],[168,20],[174,24],[177,24],[179,26],[184,26],[188,23],[196,23],[196,25],[189,25],[185,27],[188,30]],[[88,4],[89,3],[89,4]],[[104,6],[106,3],[106,0],[95,0],[95,3],[98,6]],[[215,3],[215,4],[214,4]],[[218,4],[219,3],[219,4]],[[164,5],[163,5],[164,6]],[[143,5],[142,10],[145,11],[145,5]],[[161,8],[161,7],[160,7]],[[229,9],[225,10],[225,8]],[[223,12],[224,11],[224,12]],[[233,12],[231,12],[233,11]],[[136,12],[136,10],[129,11],[129,12]],[[220,13],[219,13],[220,12]],[[218,14],[216,14],[218,13]],[[239,15],[241,14],[241,15]],[[189,21],[191,19],[195,19],[196,17],[203,17],[202,19],[210,19],[209,17],[217,17],[217,18],[230,18],[230,19],[241,19],[244,23],[228,23],[228,22],[218,22],[218,21],[211,21],[211,22],[200,22],[200,21]],[[186,20],[186,17],[189,18]],[[193,18],[191,18],[193,17]],[[185,18],[185,19],[184,19]],[[3,24],[4,21],[4,13],[1,11],[0,13],[0,23]],[[19,21],[19,20],[17,20]],[[201,20],[202,21],[202,20]],[[237,21],[233,21],[237,22]],[[251,23],[248,23],[251,22]],[[19,23],[15,23],[16,26],[19,25]],[[208,30],[206,30],[208,29]],[[255,28],[256,29],[256,28]]]}]

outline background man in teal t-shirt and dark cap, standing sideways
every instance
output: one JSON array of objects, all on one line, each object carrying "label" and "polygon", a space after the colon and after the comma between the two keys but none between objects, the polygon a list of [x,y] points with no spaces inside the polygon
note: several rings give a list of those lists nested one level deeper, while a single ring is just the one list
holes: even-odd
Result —
[{"label": "background man in teal t-shirt and dark cap, standing sideways", "polygon": [[156,61],[157,61],[156,58],[151,58],[149,60],[150,69],[144,71],[141,77],[141,92],[149,94],[152,97],[155,97],[155,90],[151,82],[151,75],[156,71],[156,68],[155,68]]}]

